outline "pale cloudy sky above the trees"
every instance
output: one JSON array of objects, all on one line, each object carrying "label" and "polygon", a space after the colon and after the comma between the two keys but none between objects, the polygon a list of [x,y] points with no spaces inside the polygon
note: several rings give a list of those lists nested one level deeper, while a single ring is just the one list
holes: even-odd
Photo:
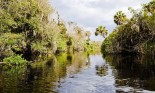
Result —
[{"label": "pale cloudy sky above the trees", "polygon": [[141,8],[141,5],[151,0],[50,0],[61,18],[68,22],[73,21],[91,31],[91,39],[103,40],[94,35],[96,27],[106,26],[109,33],[115,28],[113,16],[119,10],[128,15],[128,7]]}]

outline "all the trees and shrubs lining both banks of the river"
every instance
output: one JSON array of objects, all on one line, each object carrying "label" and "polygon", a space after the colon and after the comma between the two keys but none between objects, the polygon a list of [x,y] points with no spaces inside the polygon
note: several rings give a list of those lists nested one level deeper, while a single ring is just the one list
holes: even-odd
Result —
[{"label": "all the trees and shrubs lining both banks of the river", "polygon": [[79,51],[155,55],[154,6],[155,0],[142,9],[129,7],[131,18],[116,12],[117,26],[111,34],[104,26],[96,28],[95,35],[105,38],[101,44],[91,41],[90,31],[77,23],[63,21],[48,0],[1,0],[0,64],[21,65],[46,55]]}]

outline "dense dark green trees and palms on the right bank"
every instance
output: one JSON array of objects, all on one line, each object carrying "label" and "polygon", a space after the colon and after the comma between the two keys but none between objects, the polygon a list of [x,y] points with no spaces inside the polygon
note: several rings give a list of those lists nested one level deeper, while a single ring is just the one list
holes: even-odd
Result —
[{"label": "dense dark green trees and palms on the right bank", "polygon": [[[125,13],[118,11],[114,15],[116,28],[102,43],[102,52],[105,54],[155,54],[155,0],[142,5],[142,9],[128,10],[132,14],[128,18]],[[105,36],[107,31],[100,27]],[[105,27],[102,27],[105,28]],[[95,34],[96,34],[95,33]]]}]

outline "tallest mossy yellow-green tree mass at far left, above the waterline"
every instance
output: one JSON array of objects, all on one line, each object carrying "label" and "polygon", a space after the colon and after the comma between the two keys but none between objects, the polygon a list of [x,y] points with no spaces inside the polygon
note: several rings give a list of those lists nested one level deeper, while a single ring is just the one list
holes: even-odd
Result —
[{"label": "tallest mossy yellow-green tree mass at far left, above the waterline", "polygon": [[48,0],[1,0],[0,51],[51,49],[58,27],[49,19],[52,7]]}]

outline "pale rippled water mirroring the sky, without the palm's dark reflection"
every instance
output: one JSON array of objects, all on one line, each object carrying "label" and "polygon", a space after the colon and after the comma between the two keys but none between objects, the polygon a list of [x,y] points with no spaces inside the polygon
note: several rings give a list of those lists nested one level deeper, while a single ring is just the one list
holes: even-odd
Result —
[{"label": "pale rippled water mirroring the sky, without the palm's dark reflection", "polygon": [[[96,61],[96,60],[94,60]],[[76,78],[66,78],[66,82],[61,84],[58,88],[59,93],[115,93],[115,80],[112,76],[112,70],[107,65],[107,74],[99,76],[96,74],[95,62],[92,61],[90,68],[85,69],[80,74],[75,74]],[[102,64],[103,62],[103,64]],[[97,64],[105,65],[103,60],[98,61]]]}]

